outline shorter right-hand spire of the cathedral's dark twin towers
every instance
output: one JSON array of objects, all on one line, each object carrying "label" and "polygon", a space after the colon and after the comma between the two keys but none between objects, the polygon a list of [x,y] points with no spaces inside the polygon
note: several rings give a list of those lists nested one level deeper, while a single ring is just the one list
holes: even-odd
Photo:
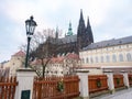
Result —
[{"label": "shorter right-hand spire of the cathedral's dark twin towers", "polygon": [[89,42],[90,42],[90,43],[94,43],[94,35],[92,35],[92,31],[91,31],[89,18],[88,18],[88,20],[87,20],[86,33],[88,34]]}]

